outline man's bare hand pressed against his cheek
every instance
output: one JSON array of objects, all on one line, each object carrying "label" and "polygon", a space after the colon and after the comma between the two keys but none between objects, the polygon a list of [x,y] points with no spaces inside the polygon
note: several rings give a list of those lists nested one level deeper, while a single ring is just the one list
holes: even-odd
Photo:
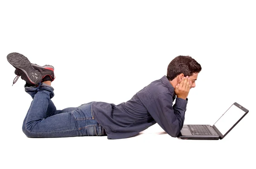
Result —
[{"label": "man's bare hand pressed against his cheek", "polygon": [[185,99],[189,95],[189,90],[192,86],[189,76],[183,77],[180,83],[175,86],[175,93],[178,98]]}]

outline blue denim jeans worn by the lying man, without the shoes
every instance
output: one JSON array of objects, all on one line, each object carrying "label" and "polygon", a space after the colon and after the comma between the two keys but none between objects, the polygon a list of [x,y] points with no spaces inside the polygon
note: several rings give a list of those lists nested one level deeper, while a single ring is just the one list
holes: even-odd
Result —
[{"label": "blue denim jeans worn by the lying man, without the shoes", "polygon": [[44,83],[38,87],[25,87],[32,102],[23,122],[22,130],[31,138],[55,138],[106,135],[104,128],[94,119],[91,103],[79,107],[56,110],[52,102],[53,88]]}]

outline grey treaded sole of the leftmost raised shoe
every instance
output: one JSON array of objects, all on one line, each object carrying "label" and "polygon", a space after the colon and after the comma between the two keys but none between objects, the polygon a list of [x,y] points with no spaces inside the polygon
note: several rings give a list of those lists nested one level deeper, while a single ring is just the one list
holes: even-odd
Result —
[{"label": "grey treaded sole of the leftmost raised shoe", "polygon": [[29,59],[23,54],[11,53],[7,55],[8,62],[20,71],[20,75],[29,85],[36,85],[41,82],[42,75],[38,70],[35,70]]}]

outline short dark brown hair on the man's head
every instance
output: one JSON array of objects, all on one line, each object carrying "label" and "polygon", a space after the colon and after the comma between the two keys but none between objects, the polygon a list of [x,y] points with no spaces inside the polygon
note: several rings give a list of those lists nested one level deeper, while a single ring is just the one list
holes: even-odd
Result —
[{"label": "short dark brown hair on the man's head", "polygon": [[168,65],[167,78],[173,80],[180,73],[185,77],[192,76],[193,73],[199,73],[201,70],[201,65],[191,56],[177,56]]}]

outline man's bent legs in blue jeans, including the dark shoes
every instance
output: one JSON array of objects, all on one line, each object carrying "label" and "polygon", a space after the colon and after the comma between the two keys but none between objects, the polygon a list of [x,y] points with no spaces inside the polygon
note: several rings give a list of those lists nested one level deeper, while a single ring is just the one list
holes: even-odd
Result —
[{"label": "man's bent legs in blue jeans, including the dark shoes", "polygon": [[[51,101],[54,96],[50,86],[54,80],[52,66],[31,64],[25,56],[18,53],[9,54],[7,60],[15,67],[17,77],[21,76],[21,79],[26,81],[25,90],[33,98],[23,122],[23,132],[28,137],[105,135],[103,127],[94,119],[90,103],[76,108],[56,110]],[[17,78],[15,79],[14,83],[17,81]],[[49,116],[47,112],[50,113]]]}]

